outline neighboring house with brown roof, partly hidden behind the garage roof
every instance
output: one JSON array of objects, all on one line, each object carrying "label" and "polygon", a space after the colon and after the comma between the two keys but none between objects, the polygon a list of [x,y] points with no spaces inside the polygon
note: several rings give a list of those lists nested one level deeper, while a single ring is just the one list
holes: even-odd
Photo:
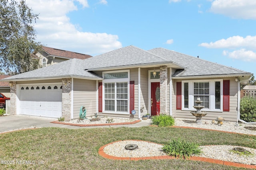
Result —
[{"label": "neighboring house with brown roof, partly hidden behind the garage roof", "polygon": [[42,46],[40,51],[34,51],[32,53],[32,57],[34,59],[39,60],[40,66],[45,67],[45,66],[57,64],[57,63],[60,63],[62,61],[66,61],[69,59],[87,59],[92,56]]}]

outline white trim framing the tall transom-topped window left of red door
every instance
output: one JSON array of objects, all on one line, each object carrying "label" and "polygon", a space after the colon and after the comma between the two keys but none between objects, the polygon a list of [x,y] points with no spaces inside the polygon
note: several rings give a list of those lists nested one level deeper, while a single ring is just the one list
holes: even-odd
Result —
[{"label": "white trim framing the tall transom-topped window left of red door", "polygon": [[[102,80],[102,112],[103,113],[114,113],[122,115],[130,115],[130,70],[116,70],[116,71],[104,71],[102,72],[102,77],[104,78],[105,73],[115,73],[115,72],[128,72],[128,78],[112,78],[112,79],[103,79]],[[128,86],[128,112],[118,112],[118,111],[105,111],[105,83],[115,83],[115,109],[116,109],[116,83],[127,82]]]}]

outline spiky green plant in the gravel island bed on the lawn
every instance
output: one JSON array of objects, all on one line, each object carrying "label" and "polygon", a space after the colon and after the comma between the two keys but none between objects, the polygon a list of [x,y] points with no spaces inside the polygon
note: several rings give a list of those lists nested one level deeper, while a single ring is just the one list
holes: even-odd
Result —
[{"label": "spiky green plant in the gravel island bed on the lawn", "polygon": [[163,151],[168,156],[175,156],[176,158],[188,158],[190,156],[198,155],[202,150],[195,143],[189,143],[181,139],[173,139],[169,144],[163,146]]}]

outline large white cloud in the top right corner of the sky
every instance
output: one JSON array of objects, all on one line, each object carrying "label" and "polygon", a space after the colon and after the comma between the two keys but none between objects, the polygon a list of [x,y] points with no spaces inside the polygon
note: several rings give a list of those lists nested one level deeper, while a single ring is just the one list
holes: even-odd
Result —
[{"label": "large white cloud in the top right corner of the sky", "polygon": [[210,12],[256,20],[256,0],[214,0]]}]

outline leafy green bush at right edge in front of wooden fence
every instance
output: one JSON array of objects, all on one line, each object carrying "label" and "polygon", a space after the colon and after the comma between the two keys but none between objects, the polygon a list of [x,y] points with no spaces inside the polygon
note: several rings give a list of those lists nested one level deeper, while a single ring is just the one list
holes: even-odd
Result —
[{"label": "leafy green bush at right edge in front of wooden fence", "polygon": [[240,100],[240,118],[247,122],[256,122],[256,98],[244,97]]}]

